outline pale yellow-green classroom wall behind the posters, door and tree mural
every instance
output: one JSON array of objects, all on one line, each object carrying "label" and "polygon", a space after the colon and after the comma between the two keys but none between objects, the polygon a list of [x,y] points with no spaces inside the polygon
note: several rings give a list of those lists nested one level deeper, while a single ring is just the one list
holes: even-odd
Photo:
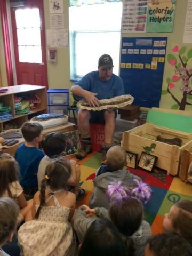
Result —
[{"label": "pale yellow-green classroom wall behind the posters, door and tree mural", "polygon": [[[167,51],[166,55],[172,52],[172,48],[175,45],[182,47],[182,37],[183,37],[183,27],[185,26],[185,17],[187,12],[187,0],[177,0],[176,10],[175,10],[175,21],[174,21],[174,30],[173,33],[131,33],[131,34],[122,34],[122,37],[155,37],[155,36],[166,36],[167,37]],[[65,28],[69,28],[69,1],[63,0],[64,4],[64,17],[65,17]],[[50,20],[49,20],[49,1],[44,0],[44,18],[45,18],[45,30],[50,28]],[[2,31],[0,28],[0,45],[2,45]],[[186,44],[187,49],[192,47],[191,44]],[[47,49],[46,49],[47,50]],[[57,62],[49,62],[47,61],[47,73],[48,73],[48,82],[49,88],[70,88],[73,84],[70,82],[70,59],[69,59],[69,48],[58,48],[57,49]],[[191,62],[191,63],[190,63]],[[192,59],[189,64],[192,68]],[[7,81],[5,77],[5,60],[3,56],[2,47],[0,47],[0,68],[2,73],[2,82],[4,86],[7,86]],[[97,68],[97,67],[95,67]],[[90,70],[91,71],[91,70]],[[170,74],[174,74],[173,67],[169,65],[169,63],[165,62],[164,68],[164,78],[163,78],[163,88],[167,88],[167,77]],[[181,97],[181,92],[179,91],[179,87],[177,86],[172,89],[172,92],[177,97]],[[162,108],[171,108],[174,105],[174,100],[171,98],[171,95],[167,93],[166,95],[162,95],[160,107]],[[192,103],[192,100],[191,100]],[[186,110],[191,110],[192,106],[187,106]]]}]

